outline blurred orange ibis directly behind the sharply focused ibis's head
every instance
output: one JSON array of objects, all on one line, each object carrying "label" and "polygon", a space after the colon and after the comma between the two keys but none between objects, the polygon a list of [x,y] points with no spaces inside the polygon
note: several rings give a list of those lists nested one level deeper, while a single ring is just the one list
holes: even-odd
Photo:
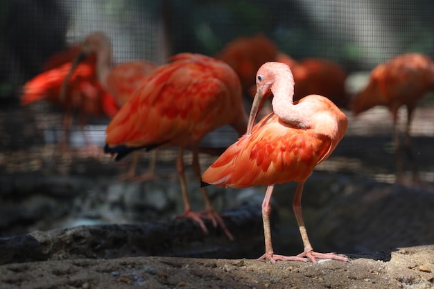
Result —
[{"label": "blurred orange ibis directly behind the sharply focused ibis's head", "polygon": [[217,59],[229,64],[241,81],[241,87],[248,93],[254,85],[254,76],[262,64],[275,61],[277,47],[264,35],[238,37],[229,42],[216,55]]}]

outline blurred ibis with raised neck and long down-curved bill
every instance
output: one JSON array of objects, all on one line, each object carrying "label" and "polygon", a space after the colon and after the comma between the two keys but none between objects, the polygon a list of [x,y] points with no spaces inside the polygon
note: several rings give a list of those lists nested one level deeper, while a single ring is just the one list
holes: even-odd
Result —
[{"label": "blurred ibis with raised neck and long down-curved bill", "polygon": [[[119,107],[130,99],[141,82],[156,67],[152,62],[145,60],[123,62],[112,67],[112,43],[110,42],[110,38],[101,32],[87,35],[77,54],[78,56],[74,61],[76,65],[80,63],[80,60],[89,57],[89,55],[96,55],[96,77],[105,90],[114,96]],[[71,67],[69,75],[71,75],[75,67],[75,65]],[[67,82],[69,82],[68,77],[64,80],[64,83]],[[139,152],[134,152],[130,168],[128,168],[125,174],[120,176],[120,179],[144,181],[155,177],[155,152],[150,155],[148,170],[140,177],[137,176],[136,172],[138,161]]]}]

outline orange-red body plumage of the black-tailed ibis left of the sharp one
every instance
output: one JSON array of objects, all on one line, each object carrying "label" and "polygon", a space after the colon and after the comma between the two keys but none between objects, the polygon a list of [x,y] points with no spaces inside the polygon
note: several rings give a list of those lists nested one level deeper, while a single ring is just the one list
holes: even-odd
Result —
[{"label": "orange-red body plumage of the black-tailed ibis left of the sharp one", "polygon": [[219,76],[219,65],[217,60],[183,53],[179,60],[155,69],[114,117],[106,142],[112,146],[184,146],[229,123],[235,114],[221,116],[235,98],[223,78],[236,75],[229,71]]}]

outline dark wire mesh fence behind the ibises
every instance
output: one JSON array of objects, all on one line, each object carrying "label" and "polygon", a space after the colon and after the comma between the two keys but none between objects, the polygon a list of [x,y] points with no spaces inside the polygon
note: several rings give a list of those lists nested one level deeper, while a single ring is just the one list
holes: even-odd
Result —
[{"label": "dark wire mesh fence behind the ibises", "polygon": [[[236,37],[262,33],[295,60],[316,57],[338,62],[349,73],[349,86],[358,89],[365,85],[366,73],[394,55],[419,52],[434,57],[434,3],[430,0],[6,0],[0,7],[3,103],[19,99],[22,85],[40,73],[50,55],[97,30],[110,37],[115,64],[137,59],[163,64],[169,55],[184,51],[216,55]],[[431,98],[429,94],[419,105],[412,126],[413,135],[424,137],[424,142],[432,142],[433,136]],[[350,118],[347,137],[382,135],[392,140],[387,109],[377,107],[358,118],[345,112]],[[403,121],[406,112],[400,114]],[[61,130],[60,115],[51,105],[33,105],[25,114],[3,112],[1,133],[9,135],[3,138],[3,146],[18,150],[32,141],[37,146],[55,142]],[[87,127],[99,143],[108,121],[94,120]],[[10,129],[21,128],[23,122],[31,130],[30,142],[23,143],[23,130]],[[370,150],[369,146],[341,144],[346,145],[361,159]],[[390,152],[384,153],[390,161]],[[431,164],[425,169],[431,170]]]}]

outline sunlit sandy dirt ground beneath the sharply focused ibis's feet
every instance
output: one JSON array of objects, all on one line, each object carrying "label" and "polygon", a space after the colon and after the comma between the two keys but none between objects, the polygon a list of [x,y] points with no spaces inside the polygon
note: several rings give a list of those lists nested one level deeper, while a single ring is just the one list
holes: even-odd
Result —
[{"label": "sunlit sandy dirt ground beneath the sharply focused ibis's feet", "polygon": [[340,261],[135,257],[0,266],[0,288],[434,288],[434,245]]}]

